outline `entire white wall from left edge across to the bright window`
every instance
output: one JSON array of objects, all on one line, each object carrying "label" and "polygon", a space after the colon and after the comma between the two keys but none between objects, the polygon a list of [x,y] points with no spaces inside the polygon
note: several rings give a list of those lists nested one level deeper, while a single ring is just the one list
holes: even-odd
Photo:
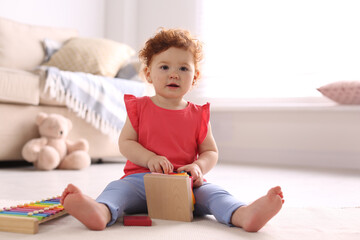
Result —
[{"label": "entire white wall from left edge across to the bright window", "polygon": [[0,0],[0,17],[75,28],[80,36],[107,37],[139,50],[159,27],[197,32],[198,0]]}]

